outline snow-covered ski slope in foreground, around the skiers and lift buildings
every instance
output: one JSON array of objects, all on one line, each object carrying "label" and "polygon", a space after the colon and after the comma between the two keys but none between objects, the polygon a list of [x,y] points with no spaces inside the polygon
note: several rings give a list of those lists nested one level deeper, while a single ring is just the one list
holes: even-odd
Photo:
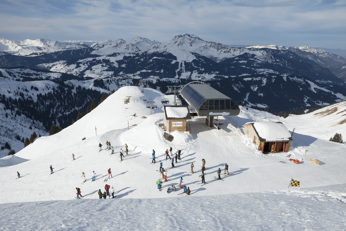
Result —
[{"label": "snow-covered ski slope in foreground, around the skiers and lift buildings", "polygon": [[[345,110],[344,102],[285,119],[251,108],[246,111],[240,106],[238,116],[218,117],[221,130],[206,126],[205,117],[195,117],[187,121],[191,133],[172,132],[174,139],[169,142],[158,126],[163,123],[162,109],[152,109],[150,115],[144,101],[152,98],[161,102],[162,93],[141,90],[122,87],[73,125],[55,135],[39,137],[16,153],[14,163],[1,159],[1,163],[7,160],[8,165],[0,168],[0,228],[345,229],[346,148],[345,144],[328,141],[336,131],[346,134],[344,126],[339,126],[344,123],[340,116]],[[281,121],[290,131],[295,127],[289,153],[257,151],[241,127],[257,121]],[[106,141],[111,142],[114,154],[106,148]],[[103,145],[101,151],[99,143]],[[125,154],[120,162],[119,151],[125,149],[125,143],[129,156]],[[181,160],[173,161],[174,168],[170,160],[165,160],[164,151],[170,146],[173,155],[182,150]],[[155,163],[151,163],[153,149]],[[288,154],[291,157],[286,157]],[[27,161],[16,162],[17,157]],[[309,157],[320,164],[309,161]],[[288,161],[289,158],[300,160],[300,164]],[[202,159],[206,160],[206,185],[199,184]],[[169,179],[161,192],[155,184],[162,177],[158,172],[159,160]],[[9,166],[11,162],[13,165]],[[230,175],[224,174],[225,163]],[[218,168],[222,180],[215,179]],[[17,171],[21,178],[17,178]],[[95,181],[91,181],[92,171],[96,173]],[[86,175],[84,183],[82,172]],[[181,177],[183,185],[191,190],[190,197],[178,195],[182,193],[179,187],[177,192],[166,192],[168,187],[177,186]],[[291,178],[300,181],[299,188],[287,188]],[[105,184],[115,188],[116,199],[98,199],[97,192],[104,192]],[[74,198],[76,187],[81,188],[85,197]]]}]

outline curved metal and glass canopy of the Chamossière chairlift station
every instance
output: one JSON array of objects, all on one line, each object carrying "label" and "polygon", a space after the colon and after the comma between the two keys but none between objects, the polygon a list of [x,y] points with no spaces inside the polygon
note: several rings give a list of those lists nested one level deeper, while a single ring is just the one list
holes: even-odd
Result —
[{"label": "curved metal and glass canopy of the Chamossi\u00e8re chairlift station", "polygon": [[234,116],[240,113],[238,105],[231,98],[199,81],[186,84],[181,95],[199,116]]}]

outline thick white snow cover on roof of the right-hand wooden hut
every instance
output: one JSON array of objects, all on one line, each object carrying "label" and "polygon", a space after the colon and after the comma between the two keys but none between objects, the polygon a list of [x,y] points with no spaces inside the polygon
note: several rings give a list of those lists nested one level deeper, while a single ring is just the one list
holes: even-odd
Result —
[{"label": "thick white snow cover on roof of the right-hand wooden hut", "polygon": [[[281,123],[274,123],[268,121],[250,122],[253,124],[255,131],[260,136],[258,138],[269,141],[289,141],[291,139],[291,133],[287,127]],[[249,123],[246,123],[249,124]],[[245,125],[245,124],[244,124]]]}]

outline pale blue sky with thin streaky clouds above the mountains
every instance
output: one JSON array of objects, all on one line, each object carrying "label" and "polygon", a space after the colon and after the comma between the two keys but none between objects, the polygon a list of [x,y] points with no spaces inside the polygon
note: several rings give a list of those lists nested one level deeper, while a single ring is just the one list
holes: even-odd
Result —
[{"label": "pale blue sky with thin streaky clouds above the mountains", "polygon": [[179,34],[240,45],[346,49],[346,0],[1,0],[0,37],[158,42]]}]

